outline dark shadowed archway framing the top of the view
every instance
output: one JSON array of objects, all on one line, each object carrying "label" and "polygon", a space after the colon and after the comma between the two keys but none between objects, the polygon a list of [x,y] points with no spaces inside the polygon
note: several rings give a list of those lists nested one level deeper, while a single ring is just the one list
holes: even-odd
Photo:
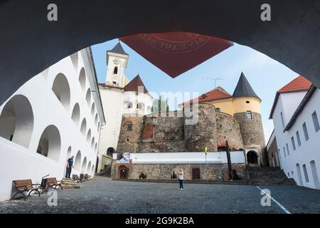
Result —
[{"label": "dark shadowed archway framing the top of the view", "polygon": [[[0,1],[0,104],[37,73],[95,43],[136,33],[189,31],[250,46],[320,88],[320,1],[265,0]],[[17,10],[21,9],[21,10]]]}]

